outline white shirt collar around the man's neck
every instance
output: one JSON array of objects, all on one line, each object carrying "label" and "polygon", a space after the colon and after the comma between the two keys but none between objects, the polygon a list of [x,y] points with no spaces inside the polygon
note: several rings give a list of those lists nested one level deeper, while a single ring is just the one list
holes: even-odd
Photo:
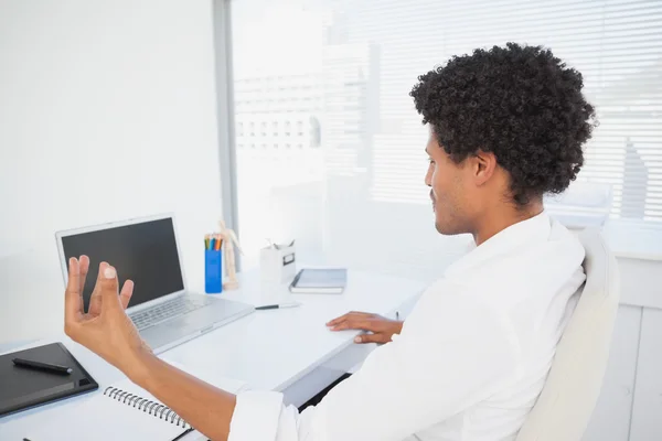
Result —
[{"label": "white shirt collar around the man's neck", "polygon": [[445,272],[447,278],[474,268],[494,257],[508,255],[524,244],[540,243],[549,237],[552,222],[545,211],[526,220],[519,222],[502,229],[480,246],[452,263]]}]

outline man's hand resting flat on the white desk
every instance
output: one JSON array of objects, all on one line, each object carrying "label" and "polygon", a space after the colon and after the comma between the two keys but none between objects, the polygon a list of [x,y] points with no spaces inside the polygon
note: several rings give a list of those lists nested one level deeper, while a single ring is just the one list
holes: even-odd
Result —
[{"label": "man's hand resting flat on the white desk", "polygon": [[356,343],[388,343],[393,334],[401,333],[403,322],[389,320],[377,314],[352,311],[338,319],[333,319],[327,323],[327,326],[331,331],[361,330],[371,332],[371,334],[357,335],[354,338]]}]

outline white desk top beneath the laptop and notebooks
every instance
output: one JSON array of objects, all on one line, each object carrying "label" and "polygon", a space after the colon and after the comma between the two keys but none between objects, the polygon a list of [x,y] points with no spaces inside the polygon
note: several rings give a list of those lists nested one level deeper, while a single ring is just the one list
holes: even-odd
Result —
[{"label": "white desk top beneath the laptop and notebooks", "polygon": [[[248,303],[268,303],[290,295],[286,287],[264,292],[257,273],[239,278],[241,289],[224,295]],[[361,363],[374,345],[355,345],[355,331],[331,332],[324,323],[349,311],[393,316],[410,308],[425,284],[419,281],[365,272],[349,272],[343,294],[297,294],[301,306],[256,311],[209,334],[160,355],[192,373],[247,381],[254,389],[282,391],[288,404],[300,406],[343,373]],[[99,383],[99,390],[124,375],[64,334],[35,342],[34,346],[63,342]],[[93,394],[99,394],[99,390]],[[42,406],[0,418],[0,440],[22,440],[26,429],[53,417],[75,420],[72,406],[90,395]]]}]

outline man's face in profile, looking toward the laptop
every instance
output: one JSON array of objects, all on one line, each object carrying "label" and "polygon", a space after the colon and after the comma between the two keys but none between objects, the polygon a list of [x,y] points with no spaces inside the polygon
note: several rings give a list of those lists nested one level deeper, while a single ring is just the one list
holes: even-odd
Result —
[{"label": "man's face in profile, looking toward the laptop", "polygon": [[453,162],[437,142],[431,127],[425,150],[430,162],[425,183],[430,187],[437,232],[444,235],[469,233],[473,192],[468,161]]}]

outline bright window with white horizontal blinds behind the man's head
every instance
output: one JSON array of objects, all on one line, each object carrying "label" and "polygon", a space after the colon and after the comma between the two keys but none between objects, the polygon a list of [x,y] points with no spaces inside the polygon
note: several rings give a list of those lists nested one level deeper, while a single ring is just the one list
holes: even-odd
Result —
[{"label": "bright window with white horizontal blinds behind the man's head", "polygon": [[[361,241],[356,261],[435,273],[451,239],[433,228],[427,133],[408,93],[450,56],[509,41],[547,46],[583,73],[600,126],[578,181],[610,186],[613,220],[662,228],[662,1],[232,6],[244,240],[296,236],[311,256],[343,258]],[[303,129],[246,130],[288,118]]]}]

